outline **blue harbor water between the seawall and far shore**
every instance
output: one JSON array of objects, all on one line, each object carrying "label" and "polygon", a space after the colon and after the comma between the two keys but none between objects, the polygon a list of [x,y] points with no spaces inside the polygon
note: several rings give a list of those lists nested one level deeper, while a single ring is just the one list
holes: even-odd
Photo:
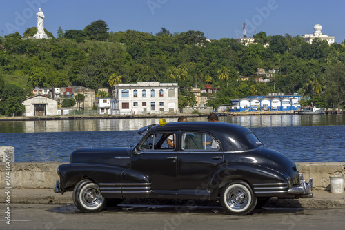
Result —
[{"label": "blue harbor water between the seawall and far shore", "polygon": [[[175,122],[177,118],[168,118]],[[250,128],[268,148],[295,162],[345,162],[345,115],[256,115],[219,117]],[[188,117],[206,121],[206,117]],[[78,147],[130,146],[136,131],[159,119],[0,121],[0,146],[14,146],[15,160],[68,162]]]}]

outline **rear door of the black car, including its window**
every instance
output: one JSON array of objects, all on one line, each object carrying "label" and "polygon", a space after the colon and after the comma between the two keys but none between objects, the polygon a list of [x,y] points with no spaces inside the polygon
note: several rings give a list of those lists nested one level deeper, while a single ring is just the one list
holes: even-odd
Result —
[{"label": "rear door of the black car, including its window", "polygon": [[180,143],[179,195],[206,198],[213,173],[224,161],[221,146],[213,135],[199,132],[182,132]]}]

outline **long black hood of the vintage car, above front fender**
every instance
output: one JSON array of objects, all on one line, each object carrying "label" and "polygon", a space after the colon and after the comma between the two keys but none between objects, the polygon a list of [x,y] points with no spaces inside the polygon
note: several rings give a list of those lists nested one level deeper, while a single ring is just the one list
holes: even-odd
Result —
[{"label": "long black hood of the vintage car, above front fender", "polygon": [[133,148],[81,148],[70,155],[70,163],[128,166]]}]

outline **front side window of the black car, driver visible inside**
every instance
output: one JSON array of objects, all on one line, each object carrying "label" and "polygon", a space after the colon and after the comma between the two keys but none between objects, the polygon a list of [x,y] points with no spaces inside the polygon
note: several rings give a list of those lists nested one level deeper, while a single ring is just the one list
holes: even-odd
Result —
[{"label": "front side window of the black car, driver visible inside", "polygon": [[176,143],[175,133],[151,133],[146,137],[144,142],[139,146],[140,150],[155,151],[155,150],[173,150]]}]

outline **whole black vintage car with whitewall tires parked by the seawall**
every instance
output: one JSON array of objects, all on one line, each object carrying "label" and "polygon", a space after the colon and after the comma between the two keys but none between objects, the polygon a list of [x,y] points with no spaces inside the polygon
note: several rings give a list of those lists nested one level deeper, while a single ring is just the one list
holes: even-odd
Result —
[{"label": "whole black vintage car with whitewall tires parked by the seawall", "polygon": [[[145,132],[144,132],[145,131]],[[142,128],[134,147],[81,148],[58,168],[55,192],[73,191],[83,212],[125,198],[219,199],[245,215],[270,198],[312,198],[299,165],[265,148],[248,129],[223,122],[176,122]]]}]

